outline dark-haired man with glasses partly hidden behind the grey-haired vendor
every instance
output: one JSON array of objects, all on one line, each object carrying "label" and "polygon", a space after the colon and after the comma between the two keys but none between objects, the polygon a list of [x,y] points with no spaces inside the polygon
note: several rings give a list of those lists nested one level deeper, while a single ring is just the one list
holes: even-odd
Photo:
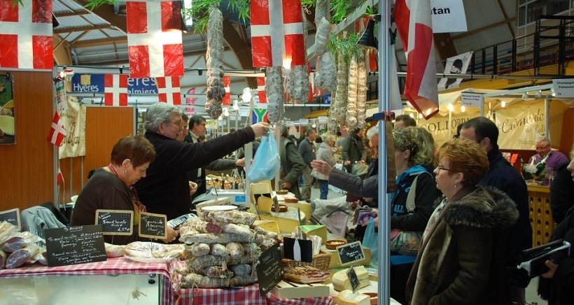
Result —
[{"label": "dark-haired man with glasses partly hidden behind the grey-haired vendor", "polygon": [[[201,115],[193,115],[189,120],[189,132],[183,141],[189,143],[200,143],[200,136],[205,136],[207,128],[205,127],[205,118]],[[216,159],[202,168],[192,169],[188,171],[188,179],[197,183],[197,192],[191,196],[191,201],[200,194],[204,194],[207,190],[206,180],[205,180],[205,170],[210,171],[226,171],[229,169],[235,169],[237,166],[245,166],[245,158],[237,160],[229,159]],[[192,207],[193,208],[193,207]]]}]

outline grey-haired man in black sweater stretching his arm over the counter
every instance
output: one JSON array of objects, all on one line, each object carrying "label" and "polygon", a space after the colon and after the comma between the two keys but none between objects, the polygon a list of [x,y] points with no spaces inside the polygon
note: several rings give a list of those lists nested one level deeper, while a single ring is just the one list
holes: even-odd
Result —
[{"label": "grey-haired man in black sweater stretching his arm over the counter", "polygon": [[167,103],[148,107],[145,136],[153,144],[156,155],[148,168],[148,177],[135,185],[148,211],[165,214],[167,219],[190,213],[187,171],[228,155],[269,130],[267,123],[258,123],[205,143],[180,142],[176,139],[183,131],[181,115],[178,107]]}]

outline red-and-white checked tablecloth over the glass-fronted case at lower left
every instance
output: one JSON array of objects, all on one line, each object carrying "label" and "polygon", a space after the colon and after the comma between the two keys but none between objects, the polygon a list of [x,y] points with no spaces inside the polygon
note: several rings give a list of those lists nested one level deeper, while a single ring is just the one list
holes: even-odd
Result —
[{"label": "red-and-white checked tablecloth over the glass-fronted case at lower left", "polygon": [[15,269],[0,270],[0,278],[21,278],[25,276],[85,276],[120,274],[159,274],[164,276],[162,292],[164,304],[174,303],[174,291],[167,263],[132,262],[124,257],[109,258],[105,262],[90,262],[61,267],[47,267],[40,264]]}]

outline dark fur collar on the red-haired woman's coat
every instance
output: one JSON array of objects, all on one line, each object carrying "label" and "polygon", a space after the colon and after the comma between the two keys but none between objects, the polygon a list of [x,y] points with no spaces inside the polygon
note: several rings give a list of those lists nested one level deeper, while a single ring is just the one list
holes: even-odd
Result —
[{"label": "dark fur collar on the red-haired woman's coat", "polygon": [[476,190],[458,200],[449,201],[444,219],[449,225],[502,230],[518,219],[514,201],[494,187],[478,185]]}]

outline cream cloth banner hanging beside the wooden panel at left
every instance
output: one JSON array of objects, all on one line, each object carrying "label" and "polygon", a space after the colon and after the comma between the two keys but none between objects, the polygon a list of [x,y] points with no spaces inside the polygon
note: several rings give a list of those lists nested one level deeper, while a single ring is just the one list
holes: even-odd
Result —
[{"label": "cream cloth banner hanging beside the wooden panel at left", "polygon": [[66,127],[66,137],[59,147],[59,158],[85,156],[85,104],[68,97],[68,109],[60,113]]}]

